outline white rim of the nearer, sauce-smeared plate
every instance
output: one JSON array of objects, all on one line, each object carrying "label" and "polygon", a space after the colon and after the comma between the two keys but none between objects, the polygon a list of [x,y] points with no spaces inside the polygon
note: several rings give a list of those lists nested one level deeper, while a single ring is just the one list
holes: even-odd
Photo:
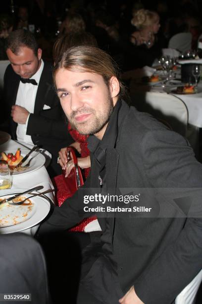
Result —
[{"label": "white rim of the nearer, sauce-smeared plate", "polygon": [[[11,189],[6,191],[6,194],[0,196],[0,198],[4,198],[14,195],[14,193],[20,193],[25,191],[26,189],[15,189],[14,191]],[[25,197],[30,196],[29,194],[25,194]],[[36,196],[31,199],[32,203],[34,204],[34,210],[31,214],[31,217],[26,221],[16,224],[9,227],[0,228],[0,234],[2,233],[12,233],[12,232],[19,232],[28,228],[31,228],[40,222],[42,222],[46,216],[49,214],[50,211],[50,202],[45,199],[44,197]],[[17,206],[16,206],[17,207]]]}]

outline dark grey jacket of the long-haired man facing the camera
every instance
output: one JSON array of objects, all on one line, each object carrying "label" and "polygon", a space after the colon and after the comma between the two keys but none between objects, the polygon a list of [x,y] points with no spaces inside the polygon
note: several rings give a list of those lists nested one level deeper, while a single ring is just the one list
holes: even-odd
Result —
[{"label": "dark grey jacket of the long-haired man facing the camera", "polygon": [[[108,144],[102,147],[106,134]],[[198,208],[188,217],[173,197],[162,195],[158,188],[165,188],[168,194],[174,189],[201,189],[202,164],[195,159],[186,139],[149,114],[129,108],[124,101],[118,117],[113,112],[104,137],[100,147],[106,153],[108,193],[133,194],[136,188],[134,194],[140,194],[138,206],[152,207],[148,217],[141,213],[110,215],[111,245],[120,286],[126,293],[134,285],[144,303],[170,304],[202,268],[201,194],[193,195]],[[70,228],[87,217],[84,207],[93,203],[85,205],[84,195],[97,193],[94,188],[98,187],[95,161],[91,153],[91,175],[86,183],[61,207],[55,207],[39,233]],[[144,189],[149,189],[149,194]],[[182,193],[180,203],[186,205],[190,195]],[[94,214],[102,227],[101,213]]]}]

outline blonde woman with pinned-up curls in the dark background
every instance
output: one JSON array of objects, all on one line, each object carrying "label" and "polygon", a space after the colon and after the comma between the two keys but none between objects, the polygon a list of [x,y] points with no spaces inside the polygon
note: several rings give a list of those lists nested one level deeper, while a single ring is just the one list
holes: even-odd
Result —
[{"label": "blonde woman with pinned-up curls in the dark background", "polygon": [[131,35],[131,42],[136,46],[145,44],[147,48],[151,48],[160,27],[158,14],[142,8],[134,13],[131,23],[137,29]]}]

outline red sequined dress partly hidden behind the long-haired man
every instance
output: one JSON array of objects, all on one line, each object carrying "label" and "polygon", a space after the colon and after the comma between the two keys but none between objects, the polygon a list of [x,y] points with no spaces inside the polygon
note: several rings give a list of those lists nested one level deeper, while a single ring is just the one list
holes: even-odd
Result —
[{"label": "red sequined dress partly hidden behind the long-haired man", "polygon": [[[80,148],[81,148],[81,157],[86,157],[90,155],[90,152],[87,147],[87,138],[88,136],[86,135],[81,135],[78,131],[74,130],[71,128],[71,125],[68,125],[68,131],[73,138],[75,142],[80,143]],[[84,169],[84,175],[85,178],[89,175],[91,168],[86,168]],[[63,175],[57,175],[53,178],[53,182],[56,185],[56,200],[57,204],[60,207],[63,202],[70,197],[68,189],[66,189],[66,185],[64,184],[64,179]],[[66,201],[65,204],[68,204],[68,201]],[[77,226],[69,229],[69,231],[84,231],[86,225],[91,223],[92,221],[96,220],[97,217],[91,217],[91,218],[86,218],[82,222],[80,222]]]}]

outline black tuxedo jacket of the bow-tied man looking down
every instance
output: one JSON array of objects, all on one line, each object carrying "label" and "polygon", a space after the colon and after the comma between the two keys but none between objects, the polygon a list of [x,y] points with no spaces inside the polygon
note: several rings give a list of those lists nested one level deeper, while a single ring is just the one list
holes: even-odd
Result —
[{"label": "black tuxedo jacket of the bow-tied man looking down", "polygon": [[[4,75],[4,103],[6,102],[7,115],[10,115],[11,106],[15,104],[19,83],[20,76],[15,74],[9,65]],[[43,110],[44,105],[48,105],[50,109]],[[16,128],[17,124],[10,119],[12,139],[16,139]],[[54,175],[58,174],[60,172],[60,166],[56,163],[58,152],[61,148],[70,145],[73,140],[67,131],[67,122],[53,88],[52,67],[46,62],[38,84],[34,113],[29,117],[27,135],[32,137],[34,144],[52,154],[51,167],[55,171]]]}]

